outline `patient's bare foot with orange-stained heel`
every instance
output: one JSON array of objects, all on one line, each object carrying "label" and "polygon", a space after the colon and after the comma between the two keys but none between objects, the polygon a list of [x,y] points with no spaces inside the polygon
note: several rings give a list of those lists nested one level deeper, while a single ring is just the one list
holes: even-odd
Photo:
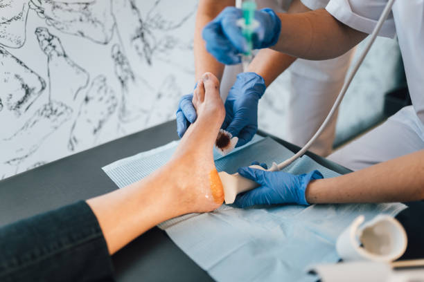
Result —
[{"label": "patient's bare foot with orange-stained heel", "polygon": [[[222,205],[224,194],[213,162],[213,146],[224,121],[225,109],[218,79],[205,73],[193,95],[197,120],[182,138],[173,158],[157,176],[166,177],[175,193],[180,214],[210,212]],[[164,173],[164,174],[160,174]]]}]

